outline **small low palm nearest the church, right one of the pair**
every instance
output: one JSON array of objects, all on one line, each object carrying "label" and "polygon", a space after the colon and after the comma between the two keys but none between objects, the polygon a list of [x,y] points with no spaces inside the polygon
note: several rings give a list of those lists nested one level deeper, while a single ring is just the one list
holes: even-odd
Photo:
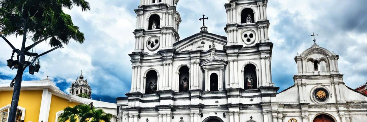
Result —
[{"label": "small low palm nearest the church, right one of the pair", "polygon": [[91,122],[111,122],[112,114],[105,113],[101,108],[91,111]]}]

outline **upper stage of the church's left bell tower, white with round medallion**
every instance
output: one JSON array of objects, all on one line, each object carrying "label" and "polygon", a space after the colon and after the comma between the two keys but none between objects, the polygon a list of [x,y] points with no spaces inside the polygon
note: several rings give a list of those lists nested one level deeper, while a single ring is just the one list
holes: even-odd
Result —
[{"label": "upper stage of the church's left bell tower, white with round medallion", "polygon": [[172,49],[179,39],[181,17],[176,11],[178,0],[140,0],[137,14],[134,52],[157,53]]}]

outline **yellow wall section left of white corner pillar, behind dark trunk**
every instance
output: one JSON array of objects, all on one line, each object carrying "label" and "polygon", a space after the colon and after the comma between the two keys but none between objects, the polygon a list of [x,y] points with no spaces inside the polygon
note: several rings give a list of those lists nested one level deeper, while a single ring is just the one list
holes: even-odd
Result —
[{"label": "yellow wall section left of white corner pillar, behind dark trunk", "polygon": [[[0,92],[0,108],[11,104],[13,91]],[[18,106],[25,108],[24,122],[38,122],[42,90],[21,90]]]}]

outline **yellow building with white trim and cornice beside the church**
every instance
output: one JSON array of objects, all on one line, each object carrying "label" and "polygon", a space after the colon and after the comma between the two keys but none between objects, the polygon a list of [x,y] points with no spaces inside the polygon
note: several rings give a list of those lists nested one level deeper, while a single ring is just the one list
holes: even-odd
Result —
[{"label": "yellow building with white trim and cornice beside the church", "polygon": [[[13,87],[0,84],[0,122],[7,122]],[[90,104],[113,114],[116,122],[116,104],[91,100],[62,92],[48,78],[40,81],[23,81],[19,96],[17,122],[56,122],[65,107]]]}]

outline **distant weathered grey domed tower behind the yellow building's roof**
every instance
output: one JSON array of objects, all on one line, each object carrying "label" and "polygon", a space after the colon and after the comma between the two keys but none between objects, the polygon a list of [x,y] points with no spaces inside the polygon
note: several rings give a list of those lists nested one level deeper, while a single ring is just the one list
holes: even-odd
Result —
[{"label": "distant weathered grey domed tower behind the yellow building's roof", "polygon": [[70,95],[80,95],[85,93],[88,95],[88,99],[91,99],[92,89],[87,82],[87,78],[84,79],[83,71],[76,80],[70,85]]}]

